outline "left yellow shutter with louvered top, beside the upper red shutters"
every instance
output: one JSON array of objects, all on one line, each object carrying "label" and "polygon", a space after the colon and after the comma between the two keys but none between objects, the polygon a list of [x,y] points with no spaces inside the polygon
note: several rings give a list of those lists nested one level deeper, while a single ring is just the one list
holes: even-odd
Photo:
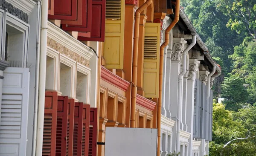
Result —
[{"label": "left yellow shutter with louvered top, beside the upper red shutters", "polygon": [[108,69],[123,69],[125,0],[107,0],[103,57]]}]

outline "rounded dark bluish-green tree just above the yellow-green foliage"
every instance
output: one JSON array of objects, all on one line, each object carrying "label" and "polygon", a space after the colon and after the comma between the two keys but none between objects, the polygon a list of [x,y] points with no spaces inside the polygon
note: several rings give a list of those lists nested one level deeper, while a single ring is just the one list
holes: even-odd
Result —
[{"label": "rounded dark bluish-green tree just above the yellow-green foliage", "polygon": [[225,98],[223,103],[227,110],[238,111],[247,101],[247,90],[244,87],[244,81],[237,75],[225,77],[221,86],[221,97]]}]

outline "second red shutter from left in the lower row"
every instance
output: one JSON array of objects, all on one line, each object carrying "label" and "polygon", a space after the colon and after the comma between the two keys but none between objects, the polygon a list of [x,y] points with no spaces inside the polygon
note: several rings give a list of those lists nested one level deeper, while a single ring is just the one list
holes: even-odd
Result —
[{"label": "second red shutter from left in the lower row", "polygon": [[58,96],[55,156],[64,156],[67,153],[67,110],[68,97]]}]

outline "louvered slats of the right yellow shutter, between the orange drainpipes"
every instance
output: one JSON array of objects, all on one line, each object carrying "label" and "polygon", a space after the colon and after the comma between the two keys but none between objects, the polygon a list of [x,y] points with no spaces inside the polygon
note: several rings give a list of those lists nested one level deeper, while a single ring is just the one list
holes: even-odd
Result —
[{"label": "louvered slats of the right yellow shutter, between the orange drainpipes", "polygon": [[157,37],[145,36],[144,59],[157,59]]}]

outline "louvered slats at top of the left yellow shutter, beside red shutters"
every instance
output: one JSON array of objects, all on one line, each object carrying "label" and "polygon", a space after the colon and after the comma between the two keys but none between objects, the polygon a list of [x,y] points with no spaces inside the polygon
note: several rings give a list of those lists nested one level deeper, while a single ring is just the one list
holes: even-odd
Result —
[{"label": "louvered slats at top of the left yellow shutter, beside red shutters", "polygon": [[121,19],[121,0],[106,0],[106,19]]}]

